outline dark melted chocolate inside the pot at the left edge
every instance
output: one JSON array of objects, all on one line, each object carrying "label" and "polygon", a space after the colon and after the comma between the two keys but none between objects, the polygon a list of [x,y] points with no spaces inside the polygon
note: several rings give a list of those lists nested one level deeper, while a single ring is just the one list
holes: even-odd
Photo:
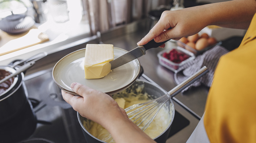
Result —
[{"label": "dark melted chocolate inside the pot at the left edge", "polygon": [[[6,76],[10,75],[11,72],[6,70],[0,70],[0,80],[5,78]],[[9,78],[7,81],[0,84],[0,94],[5,92],[9,87],[11,87],[11,84],[13,83],[14,77]]]}]

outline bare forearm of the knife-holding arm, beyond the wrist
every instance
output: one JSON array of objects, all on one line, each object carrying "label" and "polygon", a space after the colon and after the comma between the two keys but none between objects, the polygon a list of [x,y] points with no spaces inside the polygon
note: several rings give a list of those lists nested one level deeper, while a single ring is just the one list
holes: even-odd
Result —
[{"label": "bare forearm of the knife-holding arm, beyond the wrist", "polygon": [[207,25],[247,29],[256,12],[256,0],[232,0],[203,6],[208,9]]}]

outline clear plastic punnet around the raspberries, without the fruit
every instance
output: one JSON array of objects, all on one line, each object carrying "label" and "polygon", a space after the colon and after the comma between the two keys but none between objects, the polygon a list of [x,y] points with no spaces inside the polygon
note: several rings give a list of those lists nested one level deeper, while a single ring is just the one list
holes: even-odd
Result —
[{"label": "clear plastic punnet around the raspberries, without the fruit", "polygon": [[[175,63],[175,62],[173,62],[173,61],[171,61],[171,60],[169,60],[169,59],[167,59],[163,56],[164,53],[169,53],[173,49],[176,49],[180,53],[186,54],[187,56],[189,56],[189,58],[187,58],[186,60],[184,60],[180,63]],[[162,66],[166,67],[167,69],[169,69],[171,71],[174,71],[174,72],[177,72],[177,70],[179,68],[181,68],[183,65],[185,65],[188,61],[191,61],[191,60],[195,59],[195,55],[192,52],[189,52],[188,50],[186,50],[184,48],[181,48],[179,46],[165,49],[165,50],[159,52],[157,54],[157,56],[158,56],[160,65],[162,65]]]}]

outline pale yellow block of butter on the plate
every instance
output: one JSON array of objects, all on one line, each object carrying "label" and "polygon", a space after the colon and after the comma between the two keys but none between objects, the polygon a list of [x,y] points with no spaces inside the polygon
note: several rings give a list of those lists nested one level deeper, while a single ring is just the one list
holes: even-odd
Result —
[{"label": "pale yellow block of butter on the plate", "polygon": [[112,44],[87,44],[84,58],[84,72],[86,79],[97,79],[111,72],[111,64],[114,59],[114,47]]}]

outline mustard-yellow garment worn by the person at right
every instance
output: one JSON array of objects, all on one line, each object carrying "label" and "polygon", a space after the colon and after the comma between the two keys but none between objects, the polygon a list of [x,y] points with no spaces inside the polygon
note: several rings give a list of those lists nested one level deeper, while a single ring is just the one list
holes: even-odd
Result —
[{"label": "mustard-yellow garment worn by the person at right", "polygon": [[256,143],[256,14],[241,45],[219,60],[203,122],[212,143]]}]

